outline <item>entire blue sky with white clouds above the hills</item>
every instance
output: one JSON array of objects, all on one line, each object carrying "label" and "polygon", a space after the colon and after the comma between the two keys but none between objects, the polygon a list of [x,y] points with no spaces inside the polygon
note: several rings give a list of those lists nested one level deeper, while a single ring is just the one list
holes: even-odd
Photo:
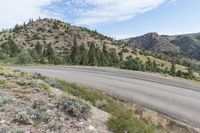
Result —
[{"label": "entire blue sky with white clouds above the hills", "polygon": [[126,38],[147,32],[200,32],[200,0],[0,0],[0,29],[56,18]]}]

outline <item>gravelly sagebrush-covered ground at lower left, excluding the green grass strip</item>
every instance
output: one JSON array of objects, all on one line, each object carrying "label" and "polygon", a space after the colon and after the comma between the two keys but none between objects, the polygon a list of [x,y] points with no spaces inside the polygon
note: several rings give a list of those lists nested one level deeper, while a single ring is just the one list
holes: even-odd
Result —
[{"label": "gravelly sagebrush-covered ground at lower left, excluding the green grass strip", "polygon": [[[108,114],[40,74],[0,68],[0,132],[108,132]],[[96,111],[94,111],[96,110]],[[93,115],[103,114],[93,119]],[[89,129],[92,127],[92,129]]]}]

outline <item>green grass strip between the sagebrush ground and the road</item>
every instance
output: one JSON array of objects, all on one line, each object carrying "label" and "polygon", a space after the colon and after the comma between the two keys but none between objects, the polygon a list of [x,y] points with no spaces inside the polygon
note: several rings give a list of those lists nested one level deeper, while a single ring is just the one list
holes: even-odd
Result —
[{"label": "green grass strip between the sagebrush ground and the road", "polygon": [[57,80],[60,88],[73,96],[89,101],[94,106],[99,101],[106,101],[106,104],[100,108],[111,114],[107,125],[108,128],[115,133],[154,133],[156,129],[139,120],[134,116],[132,110],[129,110],[120,102],[106,96],[98,91],[93,91],[85,87],[79,87],[76,84],[71,84],[65,81]]}]

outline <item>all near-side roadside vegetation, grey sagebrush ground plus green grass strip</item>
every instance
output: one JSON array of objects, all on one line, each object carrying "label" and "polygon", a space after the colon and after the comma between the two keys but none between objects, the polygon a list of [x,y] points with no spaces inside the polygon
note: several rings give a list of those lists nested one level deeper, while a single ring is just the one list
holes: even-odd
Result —
[{"label": "all near-side roadside vegetation, grey sagebrush ground plus green grass strip", "polygon": [[[87,132],[85,120],[90,119],[91,108],[97,107],[110,114],[105,122],[112,132],[157,131],[121,102],[101,92],[37,73],[1,68],[0,75],[0,130]],[[80,120],[85,124],[76,125]],[[72,121],[74,126],[70,125]]]}]

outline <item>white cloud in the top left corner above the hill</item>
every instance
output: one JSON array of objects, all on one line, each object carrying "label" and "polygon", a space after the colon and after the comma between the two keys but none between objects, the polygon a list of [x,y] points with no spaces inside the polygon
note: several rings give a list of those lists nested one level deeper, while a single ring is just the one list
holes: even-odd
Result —
[{"label": "white cloud in the top left corner above the hill", "polygon": [[47,17],[41,7],[53,0],[0,0],[0,29],[10,28],[30,18]]}]

